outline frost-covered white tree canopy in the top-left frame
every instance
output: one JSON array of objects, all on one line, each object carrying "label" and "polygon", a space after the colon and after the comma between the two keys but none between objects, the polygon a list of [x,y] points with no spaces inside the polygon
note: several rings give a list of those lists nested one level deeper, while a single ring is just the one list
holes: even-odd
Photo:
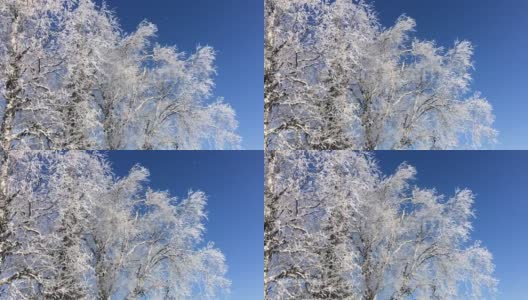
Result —
[{"label": "frost-covered white tree canopy in the top-left frame", "polygon": [[214,50],[156,31],[93,0],[1,1],[2,149],[238,148],[234,110],[210,101]]}]

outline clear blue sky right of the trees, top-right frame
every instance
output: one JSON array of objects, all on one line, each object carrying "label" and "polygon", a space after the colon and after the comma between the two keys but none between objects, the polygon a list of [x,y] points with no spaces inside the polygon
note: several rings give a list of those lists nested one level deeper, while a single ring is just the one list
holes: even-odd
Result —
[{"label": "clear blue sky right of the trees, top-right frame", "polygon": [[375,0],[383,25],[401,14],[417,22],[417,36],[452,46],[471,41],[473,89],[493,105],[500,131],[496,149],[528,149],[528,1]]}]

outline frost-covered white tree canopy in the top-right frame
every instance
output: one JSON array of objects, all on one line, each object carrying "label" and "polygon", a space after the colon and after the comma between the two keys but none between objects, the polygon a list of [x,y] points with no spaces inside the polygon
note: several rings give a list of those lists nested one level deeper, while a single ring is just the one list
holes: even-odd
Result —
[{"label": "frost-covered white tree canopy in the top-right frame", "polygon": [[492,107],[471,92],[473,46],[380,25],[357,0],[265,0],[267,149],[478,148],[495,142]]}]

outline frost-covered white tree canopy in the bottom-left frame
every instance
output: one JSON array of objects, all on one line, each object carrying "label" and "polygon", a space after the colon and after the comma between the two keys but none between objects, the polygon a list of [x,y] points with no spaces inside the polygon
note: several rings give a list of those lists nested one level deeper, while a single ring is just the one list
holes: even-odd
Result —
[{"label": "frost-covered white tree canopy in the bottom-left frame", "polygon": [[[204,243],[206,196],[177,199],[82,151],[12,151],[0,195],[1,299],[216,299],[220,250]],[[7,185],[5,185],[7,184]]]}]

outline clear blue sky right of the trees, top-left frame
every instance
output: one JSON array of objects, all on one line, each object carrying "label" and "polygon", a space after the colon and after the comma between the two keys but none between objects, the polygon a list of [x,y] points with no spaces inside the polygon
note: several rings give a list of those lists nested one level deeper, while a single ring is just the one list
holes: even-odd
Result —
[{"label": "clear blue sky right of the trees, top-left frame", "polygon": [[[96,0],[100,3],[101,0]],[[242,147],[263,149],[264,4],[262,0],[106,0],[126,32],[148,20],[158,42],[191,53],[198,45],[217,51],[214,96],[237,112]]]}]

